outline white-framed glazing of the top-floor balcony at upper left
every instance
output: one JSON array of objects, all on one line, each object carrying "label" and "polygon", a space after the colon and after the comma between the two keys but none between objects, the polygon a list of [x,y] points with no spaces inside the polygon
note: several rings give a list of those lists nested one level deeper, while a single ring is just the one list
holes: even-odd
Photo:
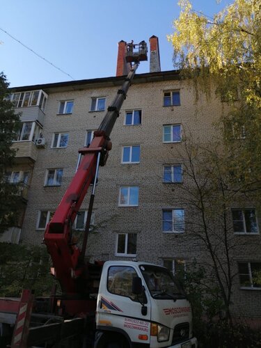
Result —
[{"label": "white-framed glazing of the top-floor balcony at upper left", "polygon": [[10,95],[10,100],[13,102],[15,108],[37,105],[42,111],[45,111],[47,94],[43,90],[13,93]]}]

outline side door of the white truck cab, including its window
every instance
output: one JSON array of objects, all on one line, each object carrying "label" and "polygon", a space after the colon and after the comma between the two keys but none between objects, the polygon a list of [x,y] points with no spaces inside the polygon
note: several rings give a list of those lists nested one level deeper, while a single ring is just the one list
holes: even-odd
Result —
[{"label": "side door of the white truck cab, including its window", "polygon": [[[132,293],[132,280],[137,276],[134,267],[129,265],[108,267],[106,290],[99,301],[97,325],[111,323],[113,329],[125,331],[132,342],[143,340],[143,343],[149,343],[150,297],[145,292],[142,295]],[[148,340],[144,342],[146,335]]]}]

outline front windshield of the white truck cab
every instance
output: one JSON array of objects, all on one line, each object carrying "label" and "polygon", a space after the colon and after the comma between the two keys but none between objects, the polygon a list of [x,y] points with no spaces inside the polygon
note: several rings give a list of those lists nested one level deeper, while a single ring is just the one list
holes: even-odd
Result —
[{"label": "front windshield of the white truck cab", "polygon": [[173,275],[164,267],[141,264],[141,273],[154,299],[185,299],[181,287],[175,282]]}]

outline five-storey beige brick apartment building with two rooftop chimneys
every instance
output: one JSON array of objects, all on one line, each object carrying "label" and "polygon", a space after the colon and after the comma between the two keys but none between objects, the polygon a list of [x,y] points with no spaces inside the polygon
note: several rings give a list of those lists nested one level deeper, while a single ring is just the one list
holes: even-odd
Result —
[{"label": "five-storey beige brick apartment building with two rooftop chimneys", "polygon": [[[77,171],[79,148],[90,143],[124,81],[125,46],[119,42],[116,77],[12,91],[15,110],[22,111],[22,127],[13,143],[18,152],[10,182],[26,184],[24,216],[13,242],[42,242],[45,226]],[[179,199],[184,194],[184,134],[201,143],[214,139],[213,122],[228,106],[214,91],[210,100],[201,93],[196,102],[192,81],[180,79],[176,70],[161,72],[155,36],[149,51],[150,72],[138,70],[134,77],[111,133],[109,159],[100,168],[86,258],[145,260],[165,264],[175,273],[193,260],[209,262],[203,243],[191,238],[189,221],[197,216]],[[89,194],[75,230],[84,230]],[[261,269],[255,207],[231,207],[230,223],[230,237],[237,244],[232,308],[239,316],[260,319],[261,288],[253,280],[254,271]]]}]

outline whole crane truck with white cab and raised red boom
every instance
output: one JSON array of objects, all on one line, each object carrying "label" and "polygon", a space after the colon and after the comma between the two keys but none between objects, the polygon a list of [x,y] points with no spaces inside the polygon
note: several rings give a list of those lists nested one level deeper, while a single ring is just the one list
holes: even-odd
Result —
[{"label": "whole crane truck with white cab and raised red boom", "polygon": [[[138,47],[136,52],[134,47]],[[2,338],[13,326],[10,347],[197,347],[191,306],[168,269],[148,262],[85,261],[98,169],[106,164],[109,136],[136,69],[140,61],[147,60],[146,43],[127,45],[125,58],[129,74],[93,141],[79,150],[79,168],[45,230],[52,274],[62,295],[53,294],[46,301],[24,290],[20,300],[0,299]],[[86,230],[79,248],[72,224],[90,185]],[[37,325],[32,318],[38,319]]]}]

